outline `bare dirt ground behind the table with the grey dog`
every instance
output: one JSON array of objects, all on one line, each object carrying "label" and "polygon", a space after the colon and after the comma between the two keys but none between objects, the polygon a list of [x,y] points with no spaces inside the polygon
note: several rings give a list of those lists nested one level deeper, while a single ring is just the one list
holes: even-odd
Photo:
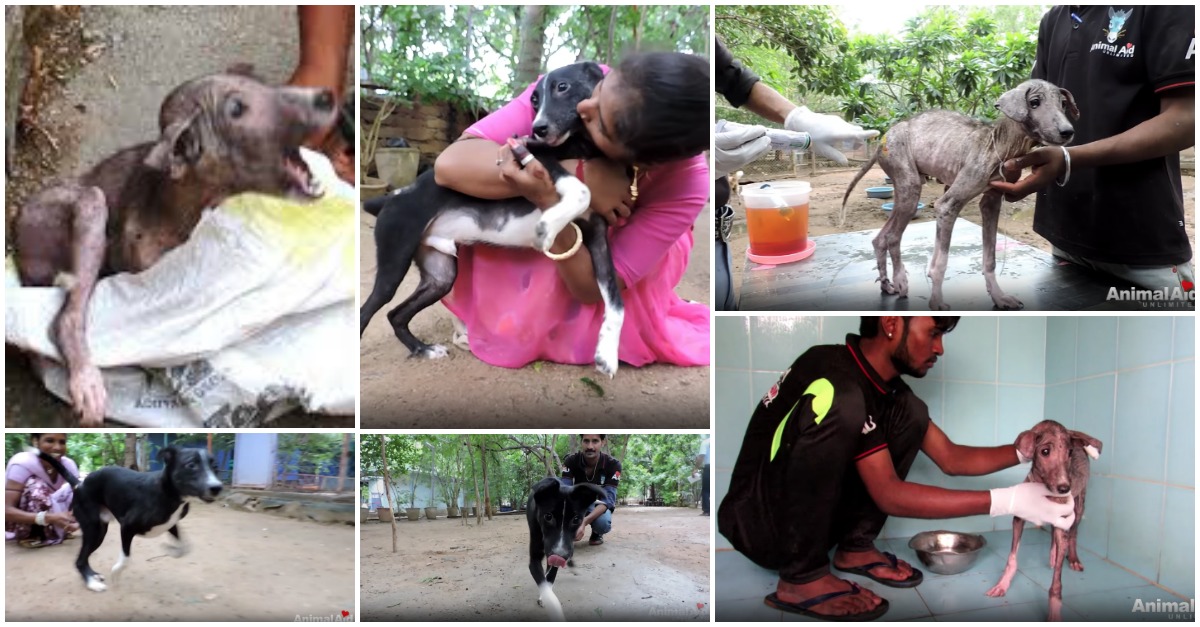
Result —
[{"label": "bare dirt ground behind the table with the grey dog", "polygon": [[[883,227],[883,222],[887,221],[889,214],[881,210],[880,207],[886,202],[892,202],[892,199],[881,201],[876,198],[868,198],[866,192],[864,191],[866,187],[886,185],[883,180],[884,173],[878,166],[871,168],[870,172],[863,177],[863,180],[858,181],[858,185],[850,196],[850,201],[846,203],[846,222],[844,226],[839,226],[841,198],[846,193],[846,187],[850,185],[850,181],[853,180],[854,174],[857,173],[858,166],[854,166],[852,168],[822,169],[816,175],[805,173],[800,177],[796,177],[796,180],[805,180],[812,184],[812,193],[809,198],[810,237],[828,235],[830,233],[850,233],[853,231],[870,231]],[[925,184],[920,195],[920,202],[925,203],[925,208],[922,209],[913,219],[914,223],[932,220],[934,211],[931,210],[931,207],[934,201],[943,193],[943,190],[944,187],[936,181]],[[1195,177],[1184,175],[1184,226],[1193,241],[1195,241],[1196,223],[1195,199]],[[742,271],[745,268],[745,253],[746,247],[750,245],[750,240],[746,235],[745,207],[742,204],[742,199],[734,195],[734,197],[730,201],[730,204],[732,204],[737,210],[733,235],[730,241],[730,255],[732,256],[733,262],[733,285],[736,286],[736,289],[738,289],[742,286]],[[1016,203],[1009,203],[1006,201],[1001,209],[1000,232],[1006,237],[1028,244],[1030,246],[1042,249],[1045,252],[1050,252],[1050,243],[1042,235],[1033,232],[1033,196],[1028,196]],[[982,225],[979,202],[972,201],[968,203],[962,209],[960,217],[970,220],[977,225]]]}]

